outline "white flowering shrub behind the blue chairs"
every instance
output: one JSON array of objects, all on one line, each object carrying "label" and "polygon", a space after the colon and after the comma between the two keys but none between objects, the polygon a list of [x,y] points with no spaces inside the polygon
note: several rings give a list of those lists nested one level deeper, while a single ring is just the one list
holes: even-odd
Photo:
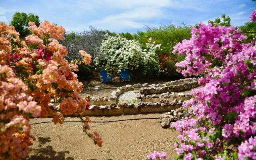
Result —
[{"label": "white flowering shrub behind the blue chairs", "polygon": [[[149,39],[149,42],[150,39]],[[143,68],[143,74],[159,73],[160,65],[157,51],[160,44],[146,43],[146,49],[136,40],[127,40],[119,35],[105,35],[100,51],[102,54],[94,60],[97,69],[110,73],[120,73],[122,69],[136,70]]]}]

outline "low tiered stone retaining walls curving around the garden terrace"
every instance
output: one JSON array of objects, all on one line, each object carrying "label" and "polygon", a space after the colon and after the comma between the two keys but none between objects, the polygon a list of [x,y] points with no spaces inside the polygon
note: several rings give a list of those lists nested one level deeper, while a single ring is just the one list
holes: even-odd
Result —
[{"label": "low tiered stone retaining walls curving around the garden terrace", "polygon": [[[180,108],[184,100],[191,98],[190,94],[183,94],[181,92],[175,93],[173,91],[188,90],[197,86],[198,79],[196,78],[181,79],[164,84],[128,84],[117,88],[116,91],[112,92],[112,94],[107,97],[90,98],[90,96],[87,96],[86,100],[90,107],[89,110],[86,110],[84,115],[114,116],[122,114],[168,112]],[[127,102],[123,102],[117,104],[118,97],[129,90],[138,90],[136,103],[128,104]],[[54,110],[59,110],[59,105],[53,108]]]}]

